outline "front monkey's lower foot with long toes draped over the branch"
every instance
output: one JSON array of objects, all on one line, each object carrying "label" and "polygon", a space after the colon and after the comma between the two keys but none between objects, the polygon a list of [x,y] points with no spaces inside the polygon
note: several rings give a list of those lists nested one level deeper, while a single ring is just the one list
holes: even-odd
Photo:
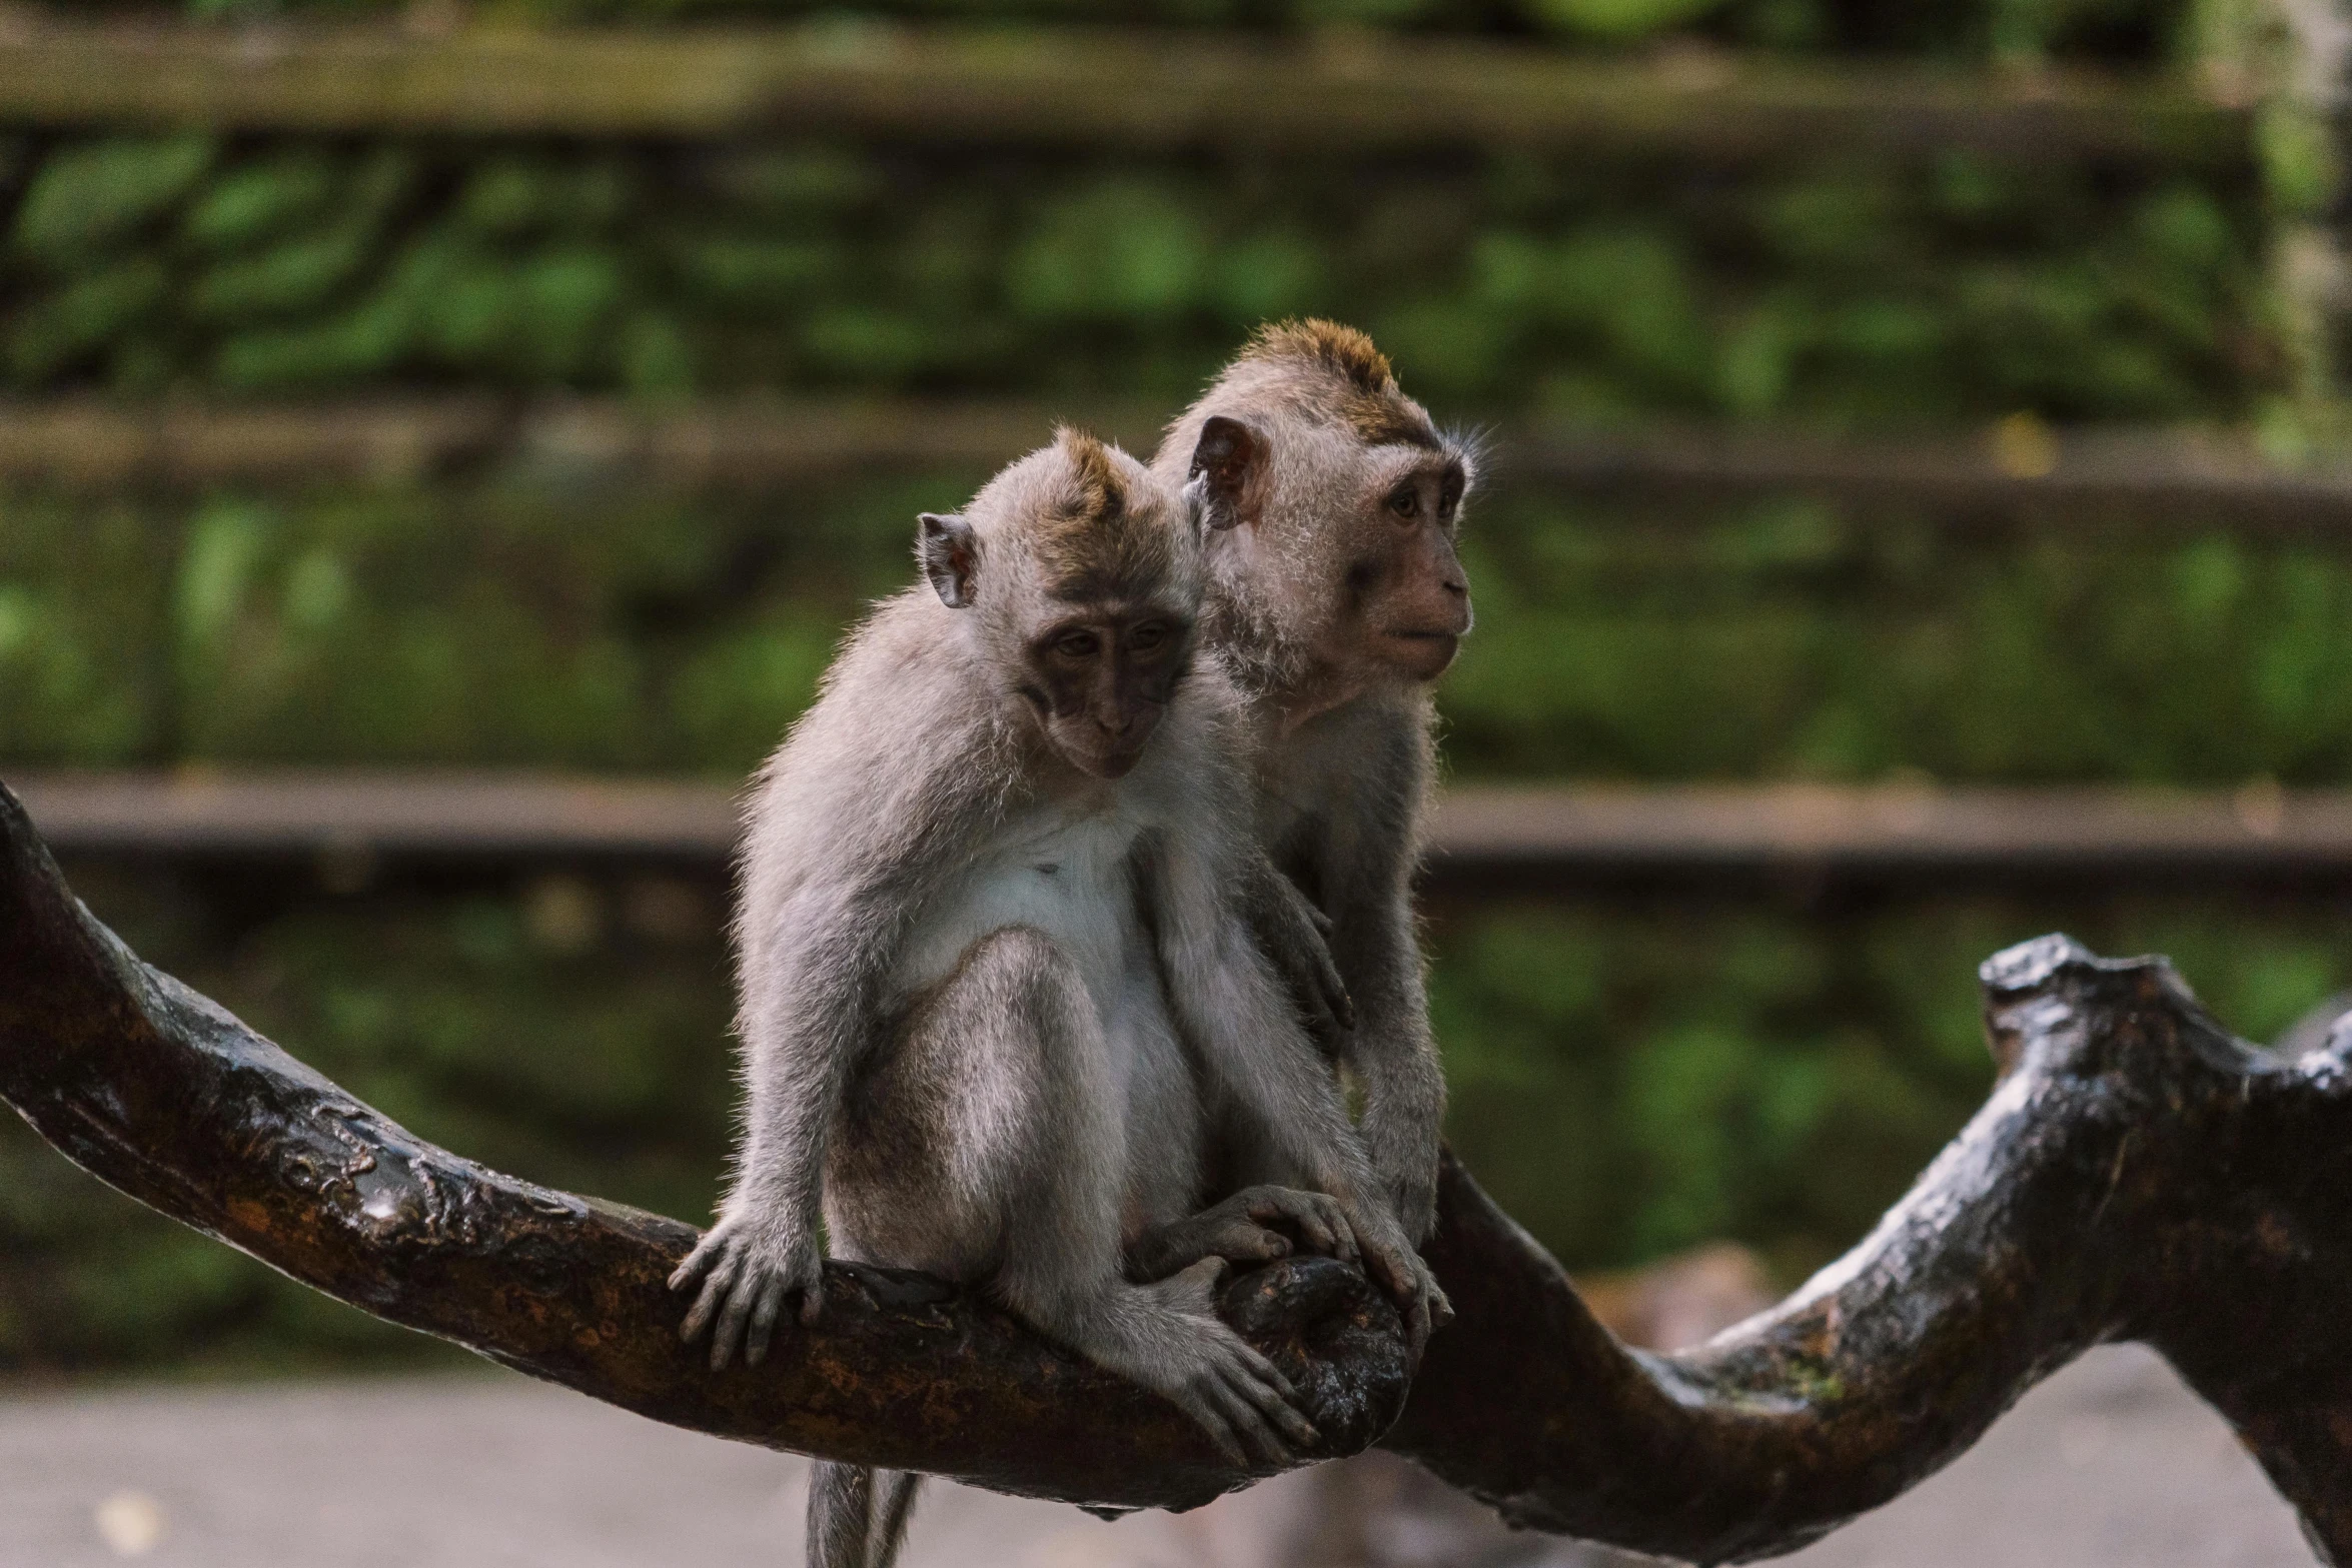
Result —
[{"label": "front monkey's lower foot with long toes draped over the branch", "polygon": [[1291,1446],[1305,1448],[1322,1436],[1298,1408],[1289,1378],[1216,1316],[1216,1284],[1223,1274],[1223,1258],[1202,1258],[1174,1279],[1143,1286],[1145,1298],[1167,1314],[1162,1324],[1176,1333],[1155,1335],[1160,1342],[1129,1375],[1197,1420],[1235,1465],[1247,1469],[1251,1462],[1244,1439],[1272,1465],[1294,1465]]}]

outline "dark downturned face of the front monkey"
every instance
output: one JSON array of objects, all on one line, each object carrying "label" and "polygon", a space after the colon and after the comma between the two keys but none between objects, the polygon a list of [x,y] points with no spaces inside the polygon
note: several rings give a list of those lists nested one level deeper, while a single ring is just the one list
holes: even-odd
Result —
[{"label": "dark downturned face of the front monkey", "polygon": [[1021,696],[1070,766],[1124,778],[1190,658],[1192,621],[1167,604],[1075,604],[1028,637]]}]

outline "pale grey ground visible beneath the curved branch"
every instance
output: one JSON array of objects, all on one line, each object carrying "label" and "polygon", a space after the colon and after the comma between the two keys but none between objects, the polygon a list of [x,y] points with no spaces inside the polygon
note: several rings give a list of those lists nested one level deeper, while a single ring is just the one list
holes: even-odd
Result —
[{"label": "pale grey ground visible beneath the curved branch", "polygon": [[[0,1399],[0,1568],[746,1568],[800,1559],[797,1460],[506,1373]],[[108,1544],[113,1542],[113,1544]],[[1392,1462],[1098,1523],[936,1486],[906,1568],[1599,1568]],[[1804,1568],[2307,1568],[2293,1516],[2147,1352],[2096,1352]]]}]

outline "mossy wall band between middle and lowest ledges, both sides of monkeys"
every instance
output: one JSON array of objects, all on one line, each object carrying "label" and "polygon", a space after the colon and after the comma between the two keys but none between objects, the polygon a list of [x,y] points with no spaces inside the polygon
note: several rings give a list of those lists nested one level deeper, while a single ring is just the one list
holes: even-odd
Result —
[{"label": "mossy wall band between middle and lowest ledges, both sides of monkeys", "polygon": [[[0,757],[736,778],[913,581],[915,512],[978,477],[0,496]],[[2326,541],[1503,491],[1465,559],[1465,778],[2352,780],[2352,552]]]}]

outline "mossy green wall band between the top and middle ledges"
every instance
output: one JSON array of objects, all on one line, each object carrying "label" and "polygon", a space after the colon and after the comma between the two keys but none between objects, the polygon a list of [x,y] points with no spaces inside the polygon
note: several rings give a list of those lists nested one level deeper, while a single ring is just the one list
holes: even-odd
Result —
[{"label": "mossy green wall band between the top and middle ledges", "polygon": [[0,388],[1188,397],[1275,315],[1461,411],[2244,416],[2246,172],[99,139],[0,197]]}]

